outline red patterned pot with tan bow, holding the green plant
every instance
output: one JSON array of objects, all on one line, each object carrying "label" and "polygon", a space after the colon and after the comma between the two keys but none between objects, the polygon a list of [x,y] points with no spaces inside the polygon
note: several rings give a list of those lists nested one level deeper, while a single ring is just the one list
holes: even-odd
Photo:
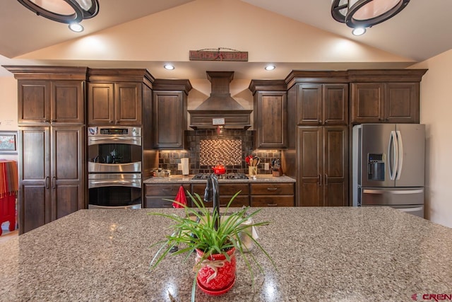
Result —
[{"label": "red patterned pot with tan bow, holding the green plant", "polygon": [[[196,250],[196,262],[203,257],[203,251]],[[229,291],[235,282],[235,248],[227,252],[230,255],[230,261],[227,261],[225,255],[210,255],[203,261],[196,279],[199,288],[210,295],[225,294]],[[216,271],[216,272],[215,272]]]}]

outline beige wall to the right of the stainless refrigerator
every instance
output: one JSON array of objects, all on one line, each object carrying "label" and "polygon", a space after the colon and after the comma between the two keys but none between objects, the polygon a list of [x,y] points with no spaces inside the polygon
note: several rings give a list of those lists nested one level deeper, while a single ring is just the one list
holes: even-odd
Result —
[{"label": "beige wall to the right of the stainless refrigerator", "polygon": [[413,68],[429,69],[421,82],[420,122],[426,124],[426,218],[452,227],[452,50]]}]

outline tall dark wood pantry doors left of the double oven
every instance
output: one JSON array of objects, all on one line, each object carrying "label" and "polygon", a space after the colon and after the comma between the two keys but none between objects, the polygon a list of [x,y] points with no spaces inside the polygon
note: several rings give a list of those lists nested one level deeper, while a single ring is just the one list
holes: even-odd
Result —
[{"label": "tall dark wood pantry doors left of the double oven", "polygon": [[19,230],[85,209],[83,126],[20,127]]}]

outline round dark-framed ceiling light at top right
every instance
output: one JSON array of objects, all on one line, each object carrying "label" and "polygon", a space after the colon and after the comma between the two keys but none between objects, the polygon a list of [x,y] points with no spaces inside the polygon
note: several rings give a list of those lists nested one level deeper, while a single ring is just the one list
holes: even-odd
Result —
[{"label": "round dark-framed ceiling light at top right", "polygon": [[331,16],[350,28],[369,28],[396,16],[410,0],[333,0]]}]

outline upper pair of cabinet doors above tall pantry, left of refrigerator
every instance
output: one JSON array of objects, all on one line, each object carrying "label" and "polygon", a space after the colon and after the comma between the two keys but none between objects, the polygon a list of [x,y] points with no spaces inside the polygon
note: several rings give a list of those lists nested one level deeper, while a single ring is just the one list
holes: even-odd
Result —
[{"label": "upper pair of cabinet doors above tall pantry, left of refrigerator", "polygon": [[347,124],[348,84],[298,84],[297,124]]}]

